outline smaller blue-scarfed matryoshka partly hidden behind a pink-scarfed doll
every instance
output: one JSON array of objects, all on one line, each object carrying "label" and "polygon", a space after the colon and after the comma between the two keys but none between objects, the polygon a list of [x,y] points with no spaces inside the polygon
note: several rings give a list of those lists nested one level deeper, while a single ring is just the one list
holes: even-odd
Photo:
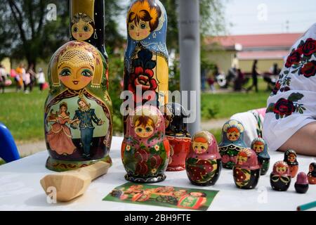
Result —
[{"label": "smaller blue-scarfed matryoshka partly hidden behind a pink-scarfed doll", "polygon": [[260,175],[265,175],[270,166],[270,155],[268,154],[267,143],[261,138],[256,138],[251,143],[251,149],[254,150],[258,156]]}]

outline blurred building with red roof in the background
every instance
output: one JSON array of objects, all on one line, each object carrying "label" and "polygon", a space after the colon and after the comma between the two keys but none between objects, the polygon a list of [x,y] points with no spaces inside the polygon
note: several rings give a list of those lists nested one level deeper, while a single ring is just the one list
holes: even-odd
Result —
[{"label": "blurred building with red roof in the background", "polygon": [[291,46],[302,33],[292,34],[246,34],[205,39],[207,58],[227,72],[233,66],[244,72],[251,72],[255,59],[258,70],[269,72],[274,63],[283,67]]}]

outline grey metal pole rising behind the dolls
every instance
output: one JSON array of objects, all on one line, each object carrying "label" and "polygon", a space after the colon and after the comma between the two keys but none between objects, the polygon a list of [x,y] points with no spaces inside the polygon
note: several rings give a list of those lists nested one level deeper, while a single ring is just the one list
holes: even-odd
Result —
[{"label": "grey metal pole rising behind the dolls", "polygon": [[[201,129],[201,56],[199,34],[199,0],[181,0],[179,6],[180,89],[188,91],[190,114],[195,122],[187,124],[190,134]],[[195,91],[195,95],[190,94]],[[192,101],[191,96],[195,96]],[[182,99],[183,101],[183,99]],[[195,108],[192,108],[195,105]]]}]

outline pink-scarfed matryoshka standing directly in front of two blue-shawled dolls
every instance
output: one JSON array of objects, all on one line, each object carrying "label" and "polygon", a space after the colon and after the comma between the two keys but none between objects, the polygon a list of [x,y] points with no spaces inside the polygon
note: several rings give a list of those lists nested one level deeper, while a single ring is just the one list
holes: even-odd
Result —
[{"label": "pink-scarfed matryoshka standing directly in front of two blue-shawled dolls", "polygon": [[238,188],[256,188],[260,177],[260,166],[254,150],[244,148],[239,151],[233,168],[233,176]]}]

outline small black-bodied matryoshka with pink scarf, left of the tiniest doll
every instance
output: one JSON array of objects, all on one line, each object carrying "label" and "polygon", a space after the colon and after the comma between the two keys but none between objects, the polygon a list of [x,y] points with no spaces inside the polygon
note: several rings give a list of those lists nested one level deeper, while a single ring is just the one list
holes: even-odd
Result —
[{"label": "small black-bodied matryoshka with pink scarf, left of the tiniest doll", "polygon": [[287,191],[291,184],[291,174],[287,162],[275,162],[273,171],[270,174],[270,184],[275,191]]}]

